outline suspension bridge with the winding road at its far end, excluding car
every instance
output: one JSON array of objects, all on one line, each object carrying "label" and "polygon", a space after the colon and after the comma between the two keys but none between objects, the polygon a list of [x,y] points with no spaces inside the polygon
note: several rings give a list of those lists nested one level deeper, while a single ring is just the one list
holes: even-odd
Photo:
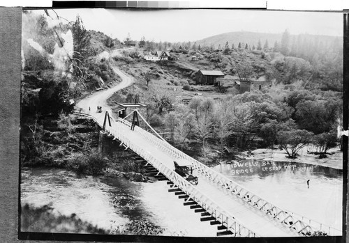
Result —
[{"label": "suspension bridge with the winding road at its far end, excluding car", "polygon": [[[232,237],[295,237],[311,235],[341,235],[341,230],[325,226],[302,215],[295,214],[270,203],[238,185],[221,173],[189,157],[170,145],[145,120],[137,109],[133,121],[125,118],[113,118],[112,110],[106,100],[114,92],[132,84],[133,79],[113,67],[123,81],[105,91],[98,91],[81,100],[77,107],[83,109],[102,128],[101,132],[119,141],[137,161],[151,168],[159,180],[165,180],[184,206],[191,207],[201,214],[201,221],[217,227],[217,235]],[[104,112],[90,111],[90,107],[103,106]],[[151,132],[134,123],[135,117],[142,118]],[[139,124],[139,123],[138,123]],[[193,185],[174,171],[174,160],[186,159],[193,166],[193,175],[198,176],[199,184]]]}]

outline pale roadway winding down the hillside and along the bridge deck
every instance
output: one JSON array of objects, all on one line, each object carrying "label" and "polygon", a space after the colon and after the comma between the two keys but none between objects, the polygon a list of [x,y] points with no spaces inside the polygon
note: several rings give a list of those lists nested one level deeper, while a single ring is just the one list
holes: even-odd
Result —
[{"label": "pale roadway winding down the hillside and along the bridge deck", "polygon": [[[112,52],[112,55],[114,54],[120,55],[120,52],[114,50]],[[110,57],[112,55],[105,52],[103,54],[103,57]],[[120,84],[117,84],[116,86],[113,86],[112,88],[109,88],[107,90],[98,91],[92,95],[89,95],[88,97],[78,102],[76,105],[78,108],[83,109],[85,113],[89,113],[90,116],[94,117],[99,125],[103,125],[105,111],[111,111],[110,107],[107,106],[107,99],[111,97],[115,92],[121,90],[122,88],[130,86],[134,82],[133,77],[126,75],[114,64],[112,64],[112,70],[117,75],[119,75],[119,77],[121,77],[122,81]],[[98,106],[103,107],[102,113],[96,112],[96,108]],[[91,108],[91,110],[89,110],[89,108]],[[169,169],[173,170],[173,161],[174,159],[177,159],[179,155],[171,152],[172,146],[168,144],[163,145],[162,141],[158,142],[156,139],[152,139],[152,135],[149,136],[149,134],[147,134],[147,132],[145,131],[142,133],[141,130],[131,130],[131,125],[126,125],[126,122],[123,122],[123,119],[120,119],[119,121],[119,123],[113,123],[112,127],[107,127],[106,131],[110,132],[112,136],[122,141],[122,143],[126,144],[128,148],[133,149],[135,152],[138,151],[137,153],[140,154],[141,157],[147,157],[148,161],[151,161],[155,168],[157,164],[158,168],[156,169],[158,171],[161,171],[160,168],[163,170],[162,173],[166,173],[166,171],[169,171]],[[209,173],[209,171],[207,173]],[[190,190],[187,190],[187,193],[190,192],[193,195],[194,193],[195,195],[198,195],[196,196],[196,198],[200,199],[201,206],[204,204],[210,205],[209,207],[211,208],[217,209],[218,211],[220,210],[221,212],[227,212],[228,215],[233,215],[233,217],[229,216],[230,221],[235,221],[235,225],[238,223],[239,227],[245,226],[244,228],[247,228],[246,226],[248,226],[248,229],[250,229],[251,232],[255,233],[258,236],[299,236],[297,230],[292,230],[290,226],[285,226],[283,222],[277,221],[275,217],[269,217],[269,214],[266,214],[262,210],[262,207],[264,207],[267,202],[262,207],[255,207],[253,203],[246,203],[246,200],[244,200],[243,198],[237,197],[235,194],[232,194],[231,191],[223,189],[223,187],[221,187],[219,183],[217,184],[215,181],[216,178],[214,178],[215,174],[207,173],[197,172],[197,174],[195,175],[198,175],[199,177],[198,186],[196,186],[194,189],[190,187]],[[179,182],[181,180],[179,180]],[[177,181],[174,180],[172,182],[176,183]],[[179,184],[177,186],[179,187]],[[213,213],[213,211],[211,213]],[[214,211],[214,213],[216,214],[216,210]],[[290,215],[288,215],[285,219],[288,219],[288,217],[290,217]],[[285,221],[285,219],[283,221]],[[295,219],[297,219],[297,217]],[[296,223],[293,221],[292,225]],[[340,233],[341,232],[339,231],[339,234]]]}]

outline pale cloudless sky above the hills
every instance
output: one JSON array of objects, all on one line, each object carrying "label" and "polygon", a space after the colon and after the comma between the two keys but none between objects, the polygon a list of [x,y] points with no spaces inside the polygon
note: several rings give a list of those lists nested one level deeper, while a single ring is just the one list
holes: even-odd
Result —
[{"label": "pale cloudless sky above the hills", "polygon": [[[41,10],[43,11],[43,10]],[[86,29],[101,31],[112,38],[182,42],[194,41],[232,31],[291,34],[309,33],[343,36],[343,13],[182,9],[117,10],[80,8],[56,10],[74,21],[80,15]]]}]

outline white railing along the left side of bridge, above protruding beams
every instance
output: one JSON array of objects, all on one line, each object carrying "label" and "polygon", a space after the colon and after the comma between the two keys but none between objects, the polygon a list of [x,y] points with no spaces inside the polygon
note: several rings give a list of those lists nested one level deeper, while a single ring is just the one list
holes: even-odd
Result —
[{"label": "white railing along the left side of bridge, above protruding beams", "polygon": [[[120,122],[128,127],[131,127],[131,124],[127,121]],[[198,203],[198,205],[200,205],[203,209],[209,212],[209,214],[220,221],[223,226],[228,228],[228,230],[231,230],[234,234],[233,236],[259,237],[259,235],[256,235],[252,230],[249,230],[248,228],[246,228],[246,226],[237,221],[237,219],[230,215],[227,210],[224,210],[222,207],[218,206],[218,203],[211,200],[209,196],[203,194],[202,191],[198,191],[198,189],[196,189],[193,185],[191,185],[190,182],[181,177],[181,175],[175,173],[174,170],[159,162],[156,157],[151,155],[143,148],[140,148],[140,146],[136,146],[135,143],[133,143],[130,139],[122,134],[121,129],[118,129],[115,123],[114,125],[112,125],[112,127],[106,127],[106,131],[117,138],[119,141],[124,143],[126,147],[130,148],[142,158],[147,160],[147,162],[158,169],[160,173],[165,175],[166,178],[174,182],[174,184],[177,185],[177,187],[184,191],[188,196],[190,196],[193,201]]]}]

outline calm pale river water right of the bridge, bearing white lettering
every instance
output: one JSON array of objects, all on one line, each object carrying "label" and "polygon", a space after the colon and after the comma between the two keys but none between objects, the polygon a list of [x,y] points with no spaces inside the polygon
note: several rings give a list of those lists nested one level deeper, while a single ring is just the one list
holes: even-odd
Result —
[{"label": "calm pale river water right of the bridge, bearing white lettering", "polygon": [[258,160],[214,169],[281,208],[341,229],[343,173],[339,169]]}]

